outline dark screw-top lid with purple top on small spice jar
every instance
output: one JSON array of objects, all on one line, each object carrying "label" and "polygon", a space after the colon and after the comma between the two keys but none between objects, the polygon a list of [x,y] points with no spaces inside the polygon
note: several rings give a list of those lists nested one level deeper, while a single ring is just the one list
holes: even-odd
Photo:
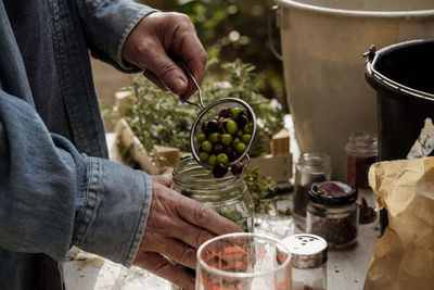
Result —
[{"label": "dark screw-top lid with purple top on small spice jar", "polygon": [[346,205],[356,202],[357,189],[341,181],[323,181],[311,185],[309,199],[328,205]]}]

